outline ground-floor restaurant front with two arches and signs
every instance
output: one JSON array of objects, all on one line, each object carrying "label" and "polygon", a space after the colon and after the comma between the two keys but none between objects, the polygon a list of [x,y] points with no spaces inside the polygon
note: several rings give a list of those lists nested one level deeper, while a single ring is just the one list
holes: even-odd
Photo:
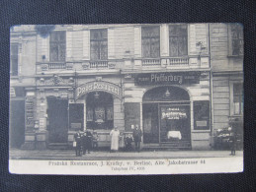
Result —
[{"label": "ground-floor restaurant front with two arches and signs", "polygon": [[117,126],[124,148],[138,126],[143,149],[209,150],[210,82],[210,72],[38,78],[24,96],[23,144],[13,147],[68,149],[74,134],[87,130],[98,134],[100,148],[109,149]]}]

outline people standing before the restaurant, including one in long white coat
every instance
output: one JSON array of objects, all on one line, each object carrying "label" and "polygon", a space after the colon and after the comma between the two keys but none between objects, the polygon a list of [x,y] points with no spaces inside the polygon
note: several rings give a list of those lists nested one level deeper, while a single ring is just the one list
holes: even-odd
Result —
[{"label": "people standing before the restaurant, including one in long white coat", "polygon": [[[140,152],[140,142],[142,137],[142,131],[138,127],[138,125],[135,125],[135,128],[133,129],[132,135],[128,134],[127,137],[123,137],[120,133],[117,126],[110,132],[111,136],[111,153],[112,152],[118,152],[121,144],[125,144],[125,150],[127,152],[133,151],[132,148],[132,142],[134,142],[135,151]],[[124,141],[122,141],[124,140]],[[90,152],[98,150],[98,134],[97,132],[93,132],[93,134],[90,131],[85,131],[84,133],[82,131],[78,131],[74,135],[74,142],[73,147],[75,149],[76,156],[82,156],[86,155],[86,153],[90,154]],[[123,147],[123,146],[122,146]]]}]

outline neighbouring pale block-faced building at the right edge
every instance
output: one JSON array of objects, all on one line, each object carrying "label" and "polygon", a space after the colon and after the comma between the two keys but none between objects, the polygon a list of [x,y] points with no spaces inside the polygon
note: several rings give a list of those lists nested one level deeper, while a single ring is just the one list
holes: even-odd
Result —
[{"label": "neighbouring pale block-faced building at the right edge", "polygon": [[213,131],[231,126],[243,135],[243,28],[211,24]]}]

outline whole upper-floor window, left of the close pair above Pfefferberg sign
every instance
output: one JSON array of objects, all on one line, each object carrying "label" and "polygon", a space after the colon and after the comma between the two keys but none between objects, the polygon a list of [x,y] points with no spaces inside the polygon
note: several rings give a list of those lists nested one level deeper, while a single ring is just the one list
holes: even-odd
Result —
[{"label": "whole upper-floor window, left of the close pair above Pfefferberg sign", "polygon": [[160,57],[160,28],[142,27],[142,57],[157,58]]}]

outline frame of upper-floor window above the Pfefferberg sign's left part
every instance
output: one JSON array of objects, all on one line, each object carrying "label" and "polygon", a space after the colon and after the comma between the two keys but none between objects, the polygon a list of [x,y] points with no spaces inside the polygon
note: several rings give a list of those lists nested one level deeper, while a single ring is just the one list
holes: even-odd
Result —
[{"label": "frame of upper-floor window above the Pfefferberg sign's left part", "polygon": [[[153,28],[158,28],[158,34],[159,35],[153,35],[153,36],[143,36],[143,29],[153,29]],[[141,27],[141,57],[142,58],[160,58],[161,57],[161,38],[160,38],[160,35],[161,35],[161,31],[160,31],[160,26],[142,26]],[[159,42],[159,49],[157,51],[157,55],[156,56],[152,56],[152,51],[151,51],[151,43],[152,43],[152,39],[156,39],[158,38],[158,42]],[[150,55],[149,57],[148,56],[144,56],[144,53],[143,53],[143,39],[149,39],[149,44],[150,44]]]}]

